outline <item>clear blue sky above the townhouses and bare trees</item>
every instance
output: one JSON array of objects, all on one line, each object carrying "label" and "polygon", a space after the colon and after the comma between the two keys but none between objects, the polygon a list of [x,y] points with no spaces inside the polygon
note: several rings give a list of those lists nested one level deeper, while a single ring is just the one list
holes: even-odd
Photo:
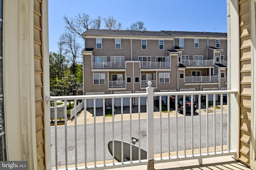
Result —
[{"label": "clear blue sky above the townhouses and bare trees", "polygon": [[[148,31],[227,32],[226,0],[49,0],[49,51],[58,52],[63,17],[78,13],[96,19],[113,16],[126,29],[144,21]],[[104,28],[102,23],[101,28]],[[84,46],[81,40],[81,45]]]}]

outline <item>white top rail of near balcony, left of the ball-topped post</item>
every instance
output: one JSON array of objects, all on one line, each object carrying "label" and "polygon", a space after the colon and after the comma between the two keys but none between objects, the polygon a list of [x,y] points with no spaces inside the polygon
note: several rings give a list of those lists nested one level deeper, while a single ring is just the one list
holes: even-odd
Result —
[{"label": "white top rail of near balcony, left of the ball-topped post", "polygon": [[84,99],[109,99],[109,98],[133,98],[146,97],[147,93],[126,93],[126,94],[97,94],[97,95],[81,95],[81,96],[48,96],[45,98],[47,102],[54,100],[84,100]]}]

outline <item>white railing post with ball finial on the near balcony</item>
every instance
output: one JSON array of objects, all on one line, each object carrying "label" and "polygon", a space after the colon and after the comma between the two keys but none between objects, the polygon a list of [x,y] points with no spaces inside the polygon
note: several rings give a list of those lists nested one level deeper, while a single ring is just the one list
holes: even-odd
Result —
[{"label": "white railing post with ball finial on the near balcony", "polygon": [[154,170],[154,88],[148,81],[147,90],[147,159],[148,170]]}]

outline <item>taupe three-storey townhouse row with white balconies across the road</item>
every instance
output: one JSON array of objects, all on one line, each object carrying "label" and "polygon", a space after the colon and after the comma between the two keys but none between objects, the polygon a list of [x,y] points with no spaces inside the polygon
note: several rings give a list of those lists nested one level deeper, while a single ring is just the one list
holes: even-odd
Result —
[{"label": "taupe three-storey townhouse row with white balconies across the road", "polygon": [[155,92],[227,89],[226,33],[88,29],[83,36],[84,95],[146,92],[149,80]]}]

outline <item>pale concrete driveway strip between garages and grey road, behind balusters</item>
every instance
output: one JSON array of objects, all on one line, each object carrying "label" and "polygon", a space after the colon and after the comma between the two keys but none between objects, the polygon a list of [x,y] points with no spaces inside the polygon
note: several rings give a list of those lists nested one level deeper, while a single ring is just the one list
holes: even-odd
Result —
[{"label": "pale concrete driveway strip between garages and grey road, behind balusters", "polygon": [[[77,115],[77,124],[84,124],[84,112],[85,110],[83,110],[79,115]],[[227,105],[223,105],[223,113],[227,112]],[[206,109],[201,109],[201,115],[205,115],[206,114]],[[213,114],[213,108],[210,107],[208,108],[208,114]],[[216,109],[216,114],[220,114],[220,109]],[[186,113],[187,116],[190,116],[190,114]],[[196,111],[196,113],[194,113],[194,116],[198,115],[198,110]],[[139,113],[124,113],[123,114],[123,120],[130,120],[130,116],[132,117],[132,120],[136,120],[139,118]],[[175,117],[176,113],[175,110],[174,111],[170,111],[170,117]],[[183,114],[178,113],[178,117],[182,117]],[[160,117],[160,112],[159,111],[155,111],[154,112],[154,118],[159,118]],[[162,112],[162,118],[164,117],[168,117],[168,113],[163,113]],[[145,112],[140,113],[140,119],[146,119],[147,118],[147,114]],[[113,117],[112,116],[106,116],[105,117],[105,122],[110,122],[112,121]],[[103,116],[96,116],[95,117],[96,123],[100,123],[103,122]],[[115,114],[114,115],[114,121],[121,121],[122,120],[122,114]],[[94,123],[94,116],[92,115],[92,113],[90,113],[89,111],[86,111],[86,123]],[[75,124],[75,120],[68,120],[67,122],[68,125],[74,125]]]}]

